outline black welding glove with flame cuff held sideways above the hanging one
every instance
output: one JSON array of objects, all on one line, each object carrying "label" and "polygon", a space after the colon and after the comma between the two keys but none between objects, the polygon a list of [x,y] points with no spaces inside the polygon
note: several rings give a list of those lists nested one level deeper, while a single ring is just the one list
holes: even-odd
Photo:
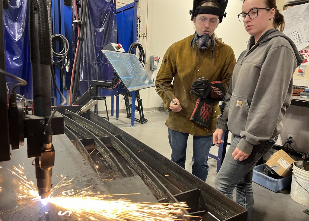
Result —
[{"label": "black welding glove with flame cuff held sideways above the hanging one", "polygon": [[222,81],[197,79],[191,84],[191,94],[199,98],[209,98],[215,101],[222,101],[225,96],[225,88]]}]

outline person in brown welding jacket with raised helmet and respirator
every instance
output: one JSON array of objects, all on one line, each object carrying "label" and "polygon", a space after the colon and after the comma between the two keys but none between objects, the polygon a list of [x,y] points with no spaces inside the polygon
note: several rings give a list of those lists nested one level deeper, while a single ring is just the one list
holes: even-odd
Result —
[{"label": "person in brown welding jacket with raised helmet and respirator", "polygon": [[[227,90],[235,66],[235,55],[230,46],[214,36],[218,24],[222,22],[227,1],[194,1],[191,10],[196,33],[172,44],[165,53],[156,78],[156,89],[170,109],[165,125],[168,127],[168,139],[172,149],[171,160],[185,168],[187,140],[193,135],[193,175],[205,181],[208,175],[208,154],[212,146],[212,134],[216,129],[217,118],[221,110],[218,101],[213,101],[212,112],[208,117],[207,128],[190,121],[195,109],[197,96],[190,93],[191,84],[198,78],[204,78],[201,84],[207,85],[211,93],[211,83],[220,81]],[[197,7],[199,6],[199,7]],[[197,44],[201,38],[208,38],[209,44]],[[173,84],[171,84],[172,80]],[[165,89],[166,93],[159,85]],[[201,88],[204,97],[205,88]],[[194,93],[194,91],[193,91]],[[223,92],[225,94],[225,91]],[[195,93],[198,95],[198,93]],[[223,95],[224,96],[224,95]],[[203,97],[201,95],[201,97]],[[222,98],[223,99],[223,98]],[[176,105],[173,104],[176,102]]]}]

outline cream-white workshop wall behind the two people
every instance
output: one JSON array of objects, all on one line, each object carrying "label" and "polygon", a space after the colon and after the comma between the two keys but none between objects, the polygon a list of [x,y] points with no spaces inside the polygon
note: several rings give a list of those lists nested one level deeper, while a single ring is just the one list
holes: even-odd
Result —
[{"label": "cream-white workshop wall behind the two people", "polygon": [[[131,3],[133,0],[120,0],[123,3]],[[117,1],[116,1],[117,2]],[[146,33],[147,21],[147,3],[148,3],[148,29],[147,42],[146,39],[141,38],[141,44],[146,51],[146,59],[149,62],[150,55],[158,55],[161,59],[167,48],[174,42],[179,41],[188,35],[194,33],[194,25],[190,20],[191,16],[188,11],[192,9],[193,0],[140,0],[141,7],[141,30]],[[280,11],[283,5],[286,4],[284,0],[277,0],[277,7]],[[116,7],[121,7],[123,4],[116,3]],[[226,8],[227,16],[223,22],[219,24],[216,29],[218,37],[230,45],[234,52],[236,59],[239,54],[246,48],[246,42],[249,39],[248,33],[240,23],[237,15],[241,11],[242,1],[230,0]],[[147,43],[147,46],[146,46]],[[162,60],[160,60],[162,61]],[[159,63],[158,70],[161,62]],[[147,73],[152,76],[149,70],[149,64],[146,66]],[[158,71],[154,71],[154,78]],[[297,83],[297,79],[295,79]],[[309,86],[309,80],[308,82]],[[145,110],[155,110],[162,105],[161,98],[156,94],[154,88],[143,89],[140,91]],[[122,96],[121,96],[122,98]],[[120,99],[120,109],[125,109],[125,104]],[[110,99],[108,98],[108,107]],[[105,110],[105,106],[100,102],[99,110]],[[294,147],[297,150],[307,152],[309,151],[309,109],[297,106],[291,106],[287,115],[283,120],[284,130],[277,142],[282,145],[288,137],[288,133],[296,135]]]}]

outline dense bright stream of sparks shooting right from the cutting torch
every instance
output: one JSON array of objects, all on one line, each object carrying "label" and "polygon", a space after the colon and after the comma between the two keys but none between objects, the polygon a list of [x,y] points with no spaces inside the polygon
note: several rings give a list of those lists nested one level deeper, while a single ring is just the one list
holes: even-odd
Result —
[{"label": "dense bright stream of sparks shooting right from the cutting torch", "polygon": [[74,196],[51,197],[49,203],[71,211],[77,217],[86,216],[93,220],[181,220],[185,203],[134,203],[124,199],[108,199],[108,195],[81,193]]}]

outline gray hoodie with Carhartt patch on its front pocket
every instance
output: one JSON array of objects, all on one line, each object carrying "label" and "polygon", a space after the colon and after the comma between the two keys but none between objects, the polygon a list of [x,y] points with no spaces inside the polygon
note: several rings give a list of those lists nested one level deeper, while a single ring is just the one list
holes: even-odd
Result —
[{"label": "gray hoodie with Carhartt patch on its front pocket", "polygon": [[266,31],[254,44],[251,36],[239,56],[217,126],[242,137],[237,147],[246,154],[251,154],[253,145],[282,132],[293,73],[304,61],[293,41],[277,29]]}]

